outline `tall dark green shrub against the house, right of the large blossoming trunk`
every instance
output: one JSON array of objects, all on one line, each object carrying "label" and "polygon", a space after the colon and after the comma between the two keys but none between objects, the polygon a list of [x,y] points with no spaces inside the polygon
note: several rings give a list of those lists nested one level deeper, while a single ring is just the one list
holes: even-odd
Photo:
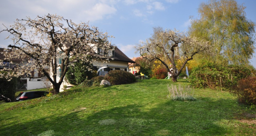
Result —
[{"label": "tall dark green shrub against the house, right of the large blossoming trunk", "polygon": [[[73,59],[71,58],[71,61],[72,60]],[[70,65],[65,78],[70,84],[79,85],[86,80],[86,78],[87,80],[90,80],[97,75],[97,71],[90,71],[88,69],[93,69],[93,64],[81,60],[73,62],[73,64]]]}]

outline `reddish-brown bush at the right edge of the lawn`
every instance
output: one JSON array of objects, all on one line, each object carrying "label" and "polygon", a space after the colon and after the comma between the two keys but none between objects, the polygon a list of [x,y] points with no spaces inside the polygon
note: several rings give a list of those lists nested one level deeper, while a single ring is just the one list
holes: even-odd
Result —
[{"label": "reddish-brown bush at the right edge of the lawn", "polygon": [[241,79],[231,92],[238,97],[239,102],[256,105],[256,77]]}]

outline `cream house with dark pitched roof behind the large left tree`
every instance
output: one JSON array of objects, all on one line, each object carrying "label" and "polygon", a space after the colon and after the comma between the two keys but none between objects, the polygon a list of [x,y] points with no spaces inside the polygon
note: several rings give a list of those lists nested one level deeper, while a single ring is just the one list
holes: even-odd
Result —
[{"label": "cream house with dark pitched roof behind the large left tree", "polygon": [[[100,54],[101,50],[97,49],[95,50],[96,53]],[[98,60],[96,63],[93,63],[94,70],[98,71],[99,76],[104,76],[106,75],[109,71],[111,70],[125,70],[128,71],[128,63],[135,63],[133,60],[131,60],[129,57],[127,57],[122,51],[120,51],[117,47],[112,53],[112,59],[109,59],[109,62],[105,63],[102,60]],[[61,61],[57,61],[59,64]],[[58,65],[58,64],[57,64]],[[60,68],[57,69],[57,81],[60,78]],[[67,81],[63,80],[61,86],[60,86],[60,91],[63,91],[63,87],[71,87]]]}]

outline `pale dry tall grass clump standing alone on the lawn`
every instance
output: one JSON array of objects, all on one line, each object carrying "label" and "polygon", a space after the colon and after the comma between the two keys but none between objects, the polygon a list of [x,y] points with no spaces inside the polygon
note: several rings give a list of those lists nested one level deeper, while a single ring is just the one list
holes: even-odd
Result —
[{"label": "pale dry tall grass clump standing alone on the lawn", "polygon": [[191,94],[191,88],[190,86],[187,86],[185,90],[183,87],[179,84],[178,88],[176,85],[171,84],[171,87],[169,84],[167,85],[168,88],[168,95],[167,98],[174,100],[174,101],[194,101],[196,100],[193,97],[193,93]]}]

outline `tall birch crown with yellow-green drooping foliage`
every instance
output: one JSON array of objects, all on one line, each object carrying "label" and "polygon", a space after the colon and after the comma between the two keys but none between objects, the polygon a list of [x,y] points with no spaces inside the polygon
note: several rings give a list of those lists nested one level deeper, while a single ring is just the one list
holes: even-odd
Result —
[{"label": "tall birch crown with yellow-green drooping foliage", "polygon": [[199,19],[189,34],[210,42],[217,61],[248,64],[255,50],[255,22],[246,18],[245,7],[236,0],[209,0],[198,8]]}]

